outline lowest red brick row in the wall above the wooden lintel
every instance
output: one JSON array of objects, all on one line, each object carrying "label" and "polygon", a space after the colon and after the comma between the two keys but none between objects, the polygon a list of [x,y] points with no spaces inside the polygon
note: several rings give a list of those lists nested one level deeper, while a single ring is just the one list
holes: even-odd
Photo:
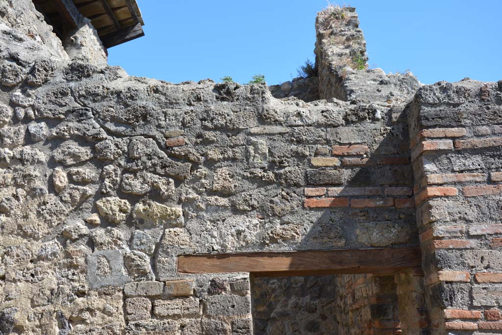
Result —
[{"label": "lowest red brick row in the wall above the wooden lintel", "polygon": [[395,198],[307,198],[304,200],[304,206],[307,208],[329,208],[329,207],[397,207],[397,208],[412,208],[415,203],[411,198],[395,199]]}]

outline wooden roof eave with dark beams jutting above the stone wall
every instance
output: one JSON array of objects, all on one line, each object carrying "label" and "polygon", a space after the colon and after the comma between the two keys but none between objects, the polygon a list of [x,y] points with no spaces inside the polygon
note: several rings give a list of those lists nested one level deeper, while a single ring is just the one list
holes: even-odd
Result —
[{"label": "wooden roof eave with dark beams jutting above the stone wall", "polygon": [[91,20],[106,48],[144,36],[145,25],[136,0],[33,0],[61,39],[77,28],[81,17]]}]

